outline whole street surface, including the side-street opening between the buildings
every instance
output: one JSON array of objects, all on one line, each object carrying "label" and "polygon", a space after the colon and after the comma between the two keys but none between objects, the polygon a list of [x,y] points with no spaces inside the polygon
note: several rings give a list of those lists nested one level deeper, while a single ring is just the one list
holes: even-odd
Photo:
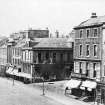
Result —
[{"label": "whole street surface, including the side-street opening between the buildings", "polygon": [[[91,105],[65,96],[61,90],[66,81],[60,82],[45,83],[43,95],[43,83],[24,84],[15,80],[13,85],[12,79],[0,77],[0,105]],[[57,88],[59,86],[61,90]]]}]

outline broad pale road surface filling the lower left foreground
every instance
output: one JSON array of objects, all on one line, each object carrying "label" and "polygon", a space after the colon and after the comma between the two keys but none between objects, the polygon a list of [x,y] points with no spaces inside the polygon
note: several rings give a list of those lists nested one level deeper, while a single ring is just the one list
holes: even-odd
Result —
[{"label": "broad pale road surface filling the lower left foreground", "polygon": [[30,87],[11,79],[0,78],[0,105],[89,105],[75,99],[64,98],[49,92],[45,96],[42,90]]}]

